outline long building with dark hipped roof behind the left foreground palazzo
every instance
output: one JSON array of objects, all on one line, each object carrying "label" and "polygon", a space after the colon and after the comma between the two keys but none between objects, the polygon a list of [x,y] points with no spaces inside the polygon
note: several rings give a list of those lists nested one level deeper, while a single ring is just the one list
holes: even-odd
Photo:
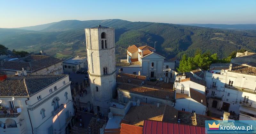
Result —
[{"label": "long building with dark hipped roof behind the left foreground palazzo", "polygon": [[15,74],[27,70],[28,74],[63,74],[62,60],[47,55],[29,55],[12,61],[6,61],[0,66],[5,74]]}]

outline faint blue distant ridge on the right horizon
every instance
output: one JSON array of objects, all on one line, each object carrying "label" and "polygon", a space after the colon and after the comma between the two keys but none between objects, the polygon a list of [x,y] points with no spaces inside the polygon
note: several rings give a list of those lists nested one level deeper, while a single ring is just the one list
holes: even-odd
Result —
[{"label": "faint blue distant ridge on the right horizon", "polygon": [[219,29],[233,29],[233,30],[256,30],[256,24],[180,24],[180,25],[192,25],[208,28],[219,28]]}]

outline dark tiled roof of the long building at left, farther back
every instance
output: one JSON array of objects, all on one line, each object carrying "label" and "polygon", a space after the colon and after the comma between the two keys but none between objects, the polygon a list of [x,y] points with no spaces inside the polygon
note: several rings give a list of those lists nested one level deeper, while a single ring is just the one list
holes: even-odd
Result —
[{"label": "dark tiled roof of the long building at left, farther back", "polygon": [[20,59],[6,61],[4,62],[3,66],[1,66],[1,68],[10,69],[10,70],[20,70],[20,71],[22,70],[22,68],[24,68],[29,72],[36,72],[40,69],[49,67],[61,61],[62,60],[59,60],[52,56],[29,55]]}]

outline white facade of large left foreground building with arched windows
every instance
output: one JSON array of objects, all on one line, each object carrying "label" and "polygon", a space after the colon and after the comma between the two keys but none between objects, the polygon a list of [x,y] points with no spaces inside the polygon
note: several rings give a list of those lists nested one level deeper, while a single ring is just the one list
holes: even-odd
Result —
[{"label": "white facade of large left foreground building with arched windows", "polygon": [[[33,131],[34,134],[65,134],[74,115],[73,102],[69,101],[72,96],[68,75],[33,95],[14,96],[14,100],[11,100],[11,96],[2,96],[0,100],[2,107],[15,109],[12,116],[0,114],[0,133],[32,134]],[[54,109],[53,101],[56,100],[59,106]],[[5,129],[1,127],[3,123]]]}]

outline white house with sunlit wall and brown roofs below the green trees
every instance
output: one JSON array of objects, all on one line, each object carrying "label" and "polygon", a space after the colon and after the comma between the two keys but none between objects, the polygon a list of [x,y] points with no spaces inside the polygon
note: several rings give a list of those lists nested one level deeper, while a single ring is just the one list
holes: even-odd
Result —
[{"label": "white house with sunlit wall and brown roofs below the green trees", "polygon": [[204,74],[205,71],[198,68],[176,76],[175,109],[205,115],[207,102]]}]

